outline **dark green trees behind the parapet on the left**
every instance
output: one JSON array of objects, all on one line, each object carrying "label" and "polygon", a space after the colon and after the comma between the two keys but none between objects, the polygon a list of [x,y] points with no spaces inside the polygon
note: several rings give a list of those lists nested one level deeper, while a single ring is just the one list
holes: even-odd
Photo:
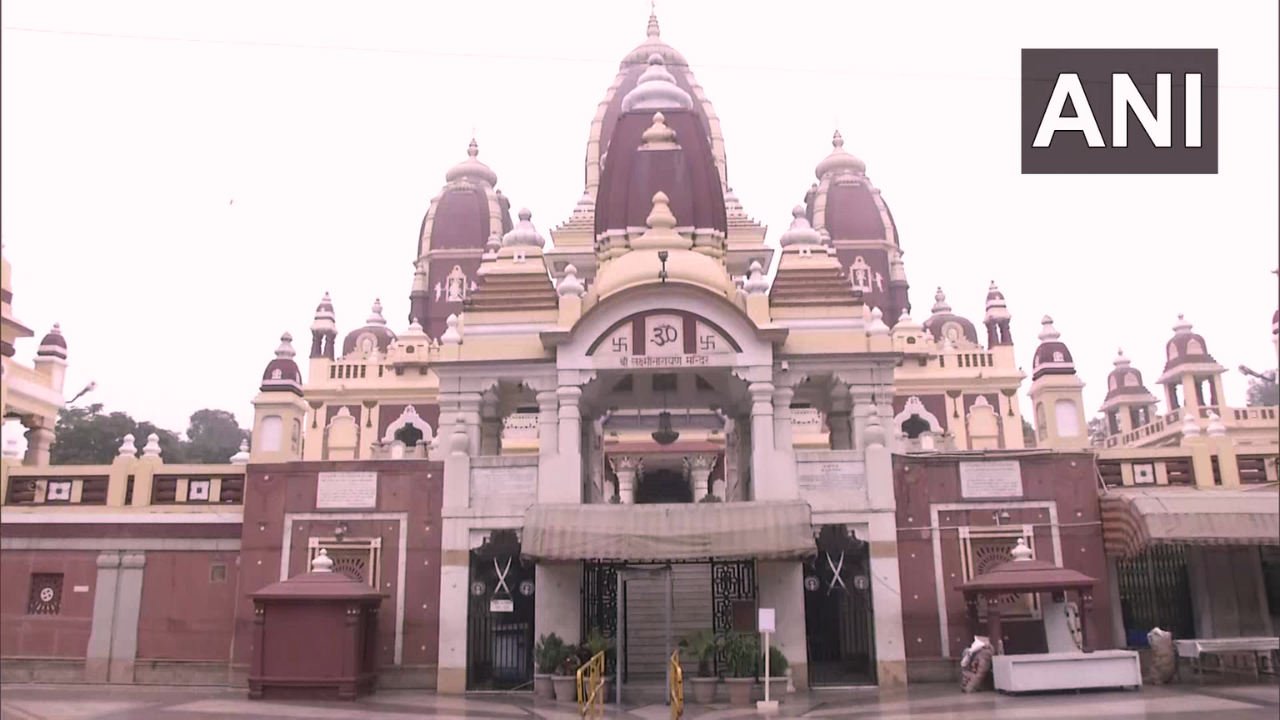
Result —
[{"label": "dark green trees behind the parapet on the left", "polygon": [[155,433],[166,462],[182,462],[182,439],[152,423],[138,423],[128,413],[102,413],[102,404],[88,407],[63,407],[54,427],[50,465],[109,465],[120,454],[124,436],[132,434],[138,450]]}]

